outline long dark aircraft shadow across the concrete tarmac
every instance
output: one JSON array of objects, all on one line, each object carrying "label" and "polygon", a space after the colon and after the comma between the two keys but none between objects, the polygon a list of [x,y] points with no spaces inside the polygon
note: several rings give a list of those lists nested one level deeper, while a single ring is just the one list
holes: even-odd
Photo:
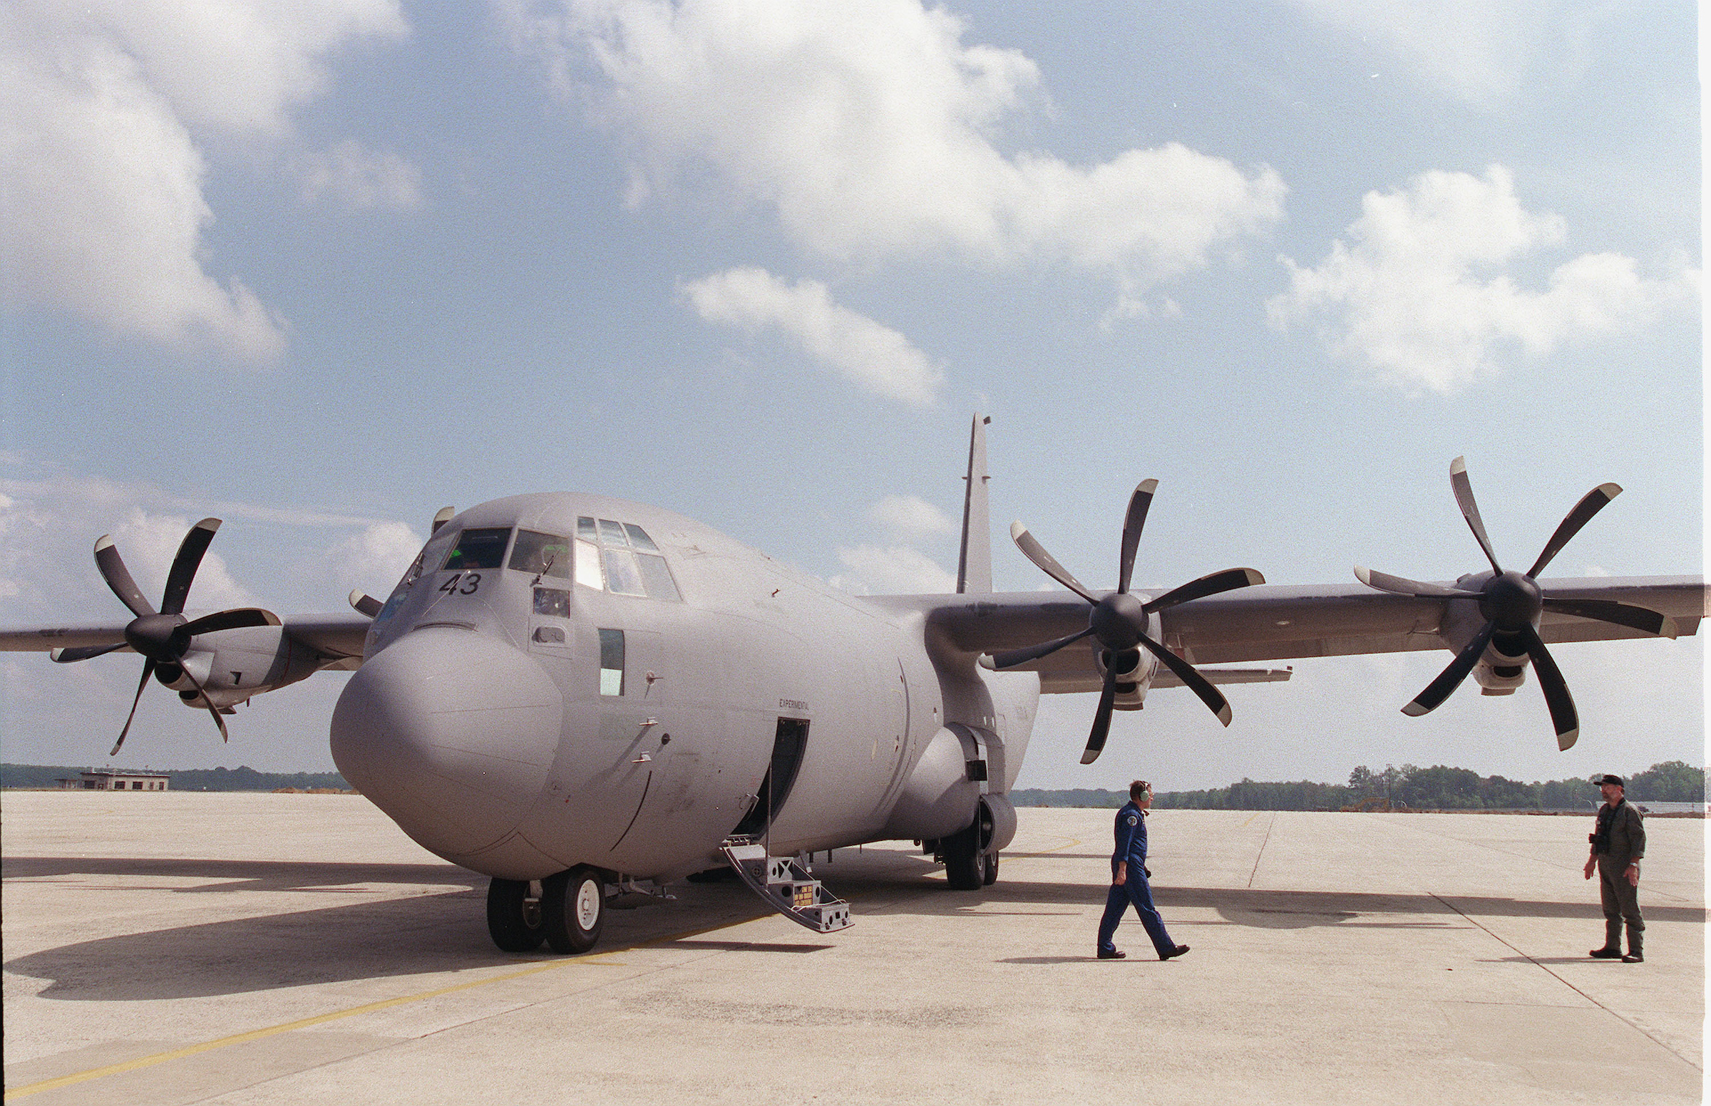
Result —
[{"label": "long dark aircraft shadow across the concrete tarmac", "polygon": [[[1078,915],[1104,903],[1098,884],[1004,880],[979,892],[946,891],[941,870],[926,858],[867,853],[854,863],[838,858],[820,867],[826,885],[862,913],[965,918],[982,915]],[[216,894],[248,891],[258,913],[198,921],[144,933],[101,937],[43,949],[10,959],[7,971],[50,980],[43,998],[123,1002],[233,995],[284,986],[373,980],[546,959],[505,956],[493,949],[483,909],[484,879],[441,863],[293,863],[241,860],[31,858],[5,860],[7,880],[79,880],[87,894],[125,896]],[[111,884],[89,880],[110,877]],[[128,879],[127,879],[128,877]],[[163,887],[147,879],[209,879],[209,885]],[[368,885],[366,889],[363,885]],[[375,889],[375,885],[382,885]],[[385,885],[394,891],[385,891]],[[417,894],[397,894],[414,885]],[[801,942],[720,940],[705,930],[761,916],[749,891],[734,882],[674,884],[669,903],[607,915],[601,945],[731,949],[811,954],[832,945]],[[1174,887],[1153,884],[1167,916],[1186,908],[1211,908],[1222,923],[1261,928],[1305,927],[1442,927],[1466,916],[1598,918],[1596,903],[1545,903],[1507,897],[1374,894],[1340,891],[1264,891]],[[334,906],[277,909],[269,896],[303,904],[305,892],[351,896]],[[388,896],[390,897],[383,897]],[[375,897],[364,897],[375,896]],[[1059,909],[1051,909],[1051,908]],[[265,911],[265,913],[263,913]],[[1651,906],[1658,921],[1702,923],[1706,911]],[[1179,923],[1179,921],[1177,921]],[[1181,923],[1179,923],[1181,925]],[[1206,923],[1201,923],[1206,925]],[[672,937],[684,933],[684,937]],[[808,937],[806,933],[802,935]],[[125,971],[115,971],[125,966]]]}]

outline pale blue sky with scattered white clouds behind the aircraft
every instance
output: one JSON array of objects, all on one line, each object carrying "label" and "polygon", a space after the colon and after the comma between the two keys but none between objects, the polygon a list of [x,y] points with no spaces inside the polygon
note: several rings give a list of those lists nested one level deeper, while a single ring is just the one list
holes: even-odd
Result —
[{"label": "pale blue sky with scattered white clouds behind the aircraft", "polygon": [[[337,610],[428,520],[657,503],[856,591],[941,590],[970,412],[1011,518],[1109,586],[1702,559],[1699,89],[1687,3],[566,0],[0,12],[0,622],[115,617],[226,520],[193,605]],[[149,578],[154,583],[149,583]],[[1162,691],[1032,786],[1560,778],[1702,762],[1702,646],[1557,650],[1400,715],[1448,653],[1300,662],[1222,730]],[[221,747],[156,689],[132,761],[330,768],[342,677]],[[0,752],[99,762],[133,662],[0,660]],[[133,750],[133,752],[132,752]],[[128,761],[127,761],[128,762]]]}]

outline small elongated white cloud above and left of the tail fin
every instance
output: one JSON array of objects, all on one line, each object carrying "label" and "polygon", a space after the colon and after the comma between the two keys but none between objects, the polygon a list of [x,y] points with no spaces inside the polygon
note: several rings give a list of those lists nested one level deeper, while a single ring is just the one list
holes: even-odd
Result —
[{"label": "small elongated white cloud above and left of the tail fin", "polygon": [[909,338],[832,299],[818,280],[794,285],[763,268],[731,268],[683,287],[696,315],[748,333],[779,330],[809,357],[861,388],[926,407],[944,373]]}]

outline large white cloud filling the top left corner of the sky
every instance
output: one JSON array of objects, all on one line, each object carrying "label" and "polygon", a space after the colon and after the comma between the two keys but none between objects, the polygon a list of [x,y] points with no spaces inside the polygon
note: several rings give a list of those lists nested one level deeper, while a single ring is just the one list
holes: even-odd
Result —
[{"label": "large white cloud filling the top left corner of the sky", "polygon": [[200,135],[279,140],[397,0],[19,0],[0,9],[0,253],[9,292],[240,361],[286,325],[207,270]]}]

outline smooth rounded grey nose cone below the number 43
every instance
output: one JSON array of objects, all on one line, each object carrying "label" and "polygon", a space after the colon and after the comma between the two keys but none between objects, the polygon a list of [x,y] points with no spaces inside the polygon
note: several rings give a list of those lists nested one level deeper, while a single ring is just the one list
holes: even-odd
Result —
[{"label": "smooth rounded grey nose cone below the number 43", "polygon": [[546,786],[563,697],[505,641],[453,627],[366,660],[332,715],[344,778],[424,848],[457,858],[517,829]]}]

